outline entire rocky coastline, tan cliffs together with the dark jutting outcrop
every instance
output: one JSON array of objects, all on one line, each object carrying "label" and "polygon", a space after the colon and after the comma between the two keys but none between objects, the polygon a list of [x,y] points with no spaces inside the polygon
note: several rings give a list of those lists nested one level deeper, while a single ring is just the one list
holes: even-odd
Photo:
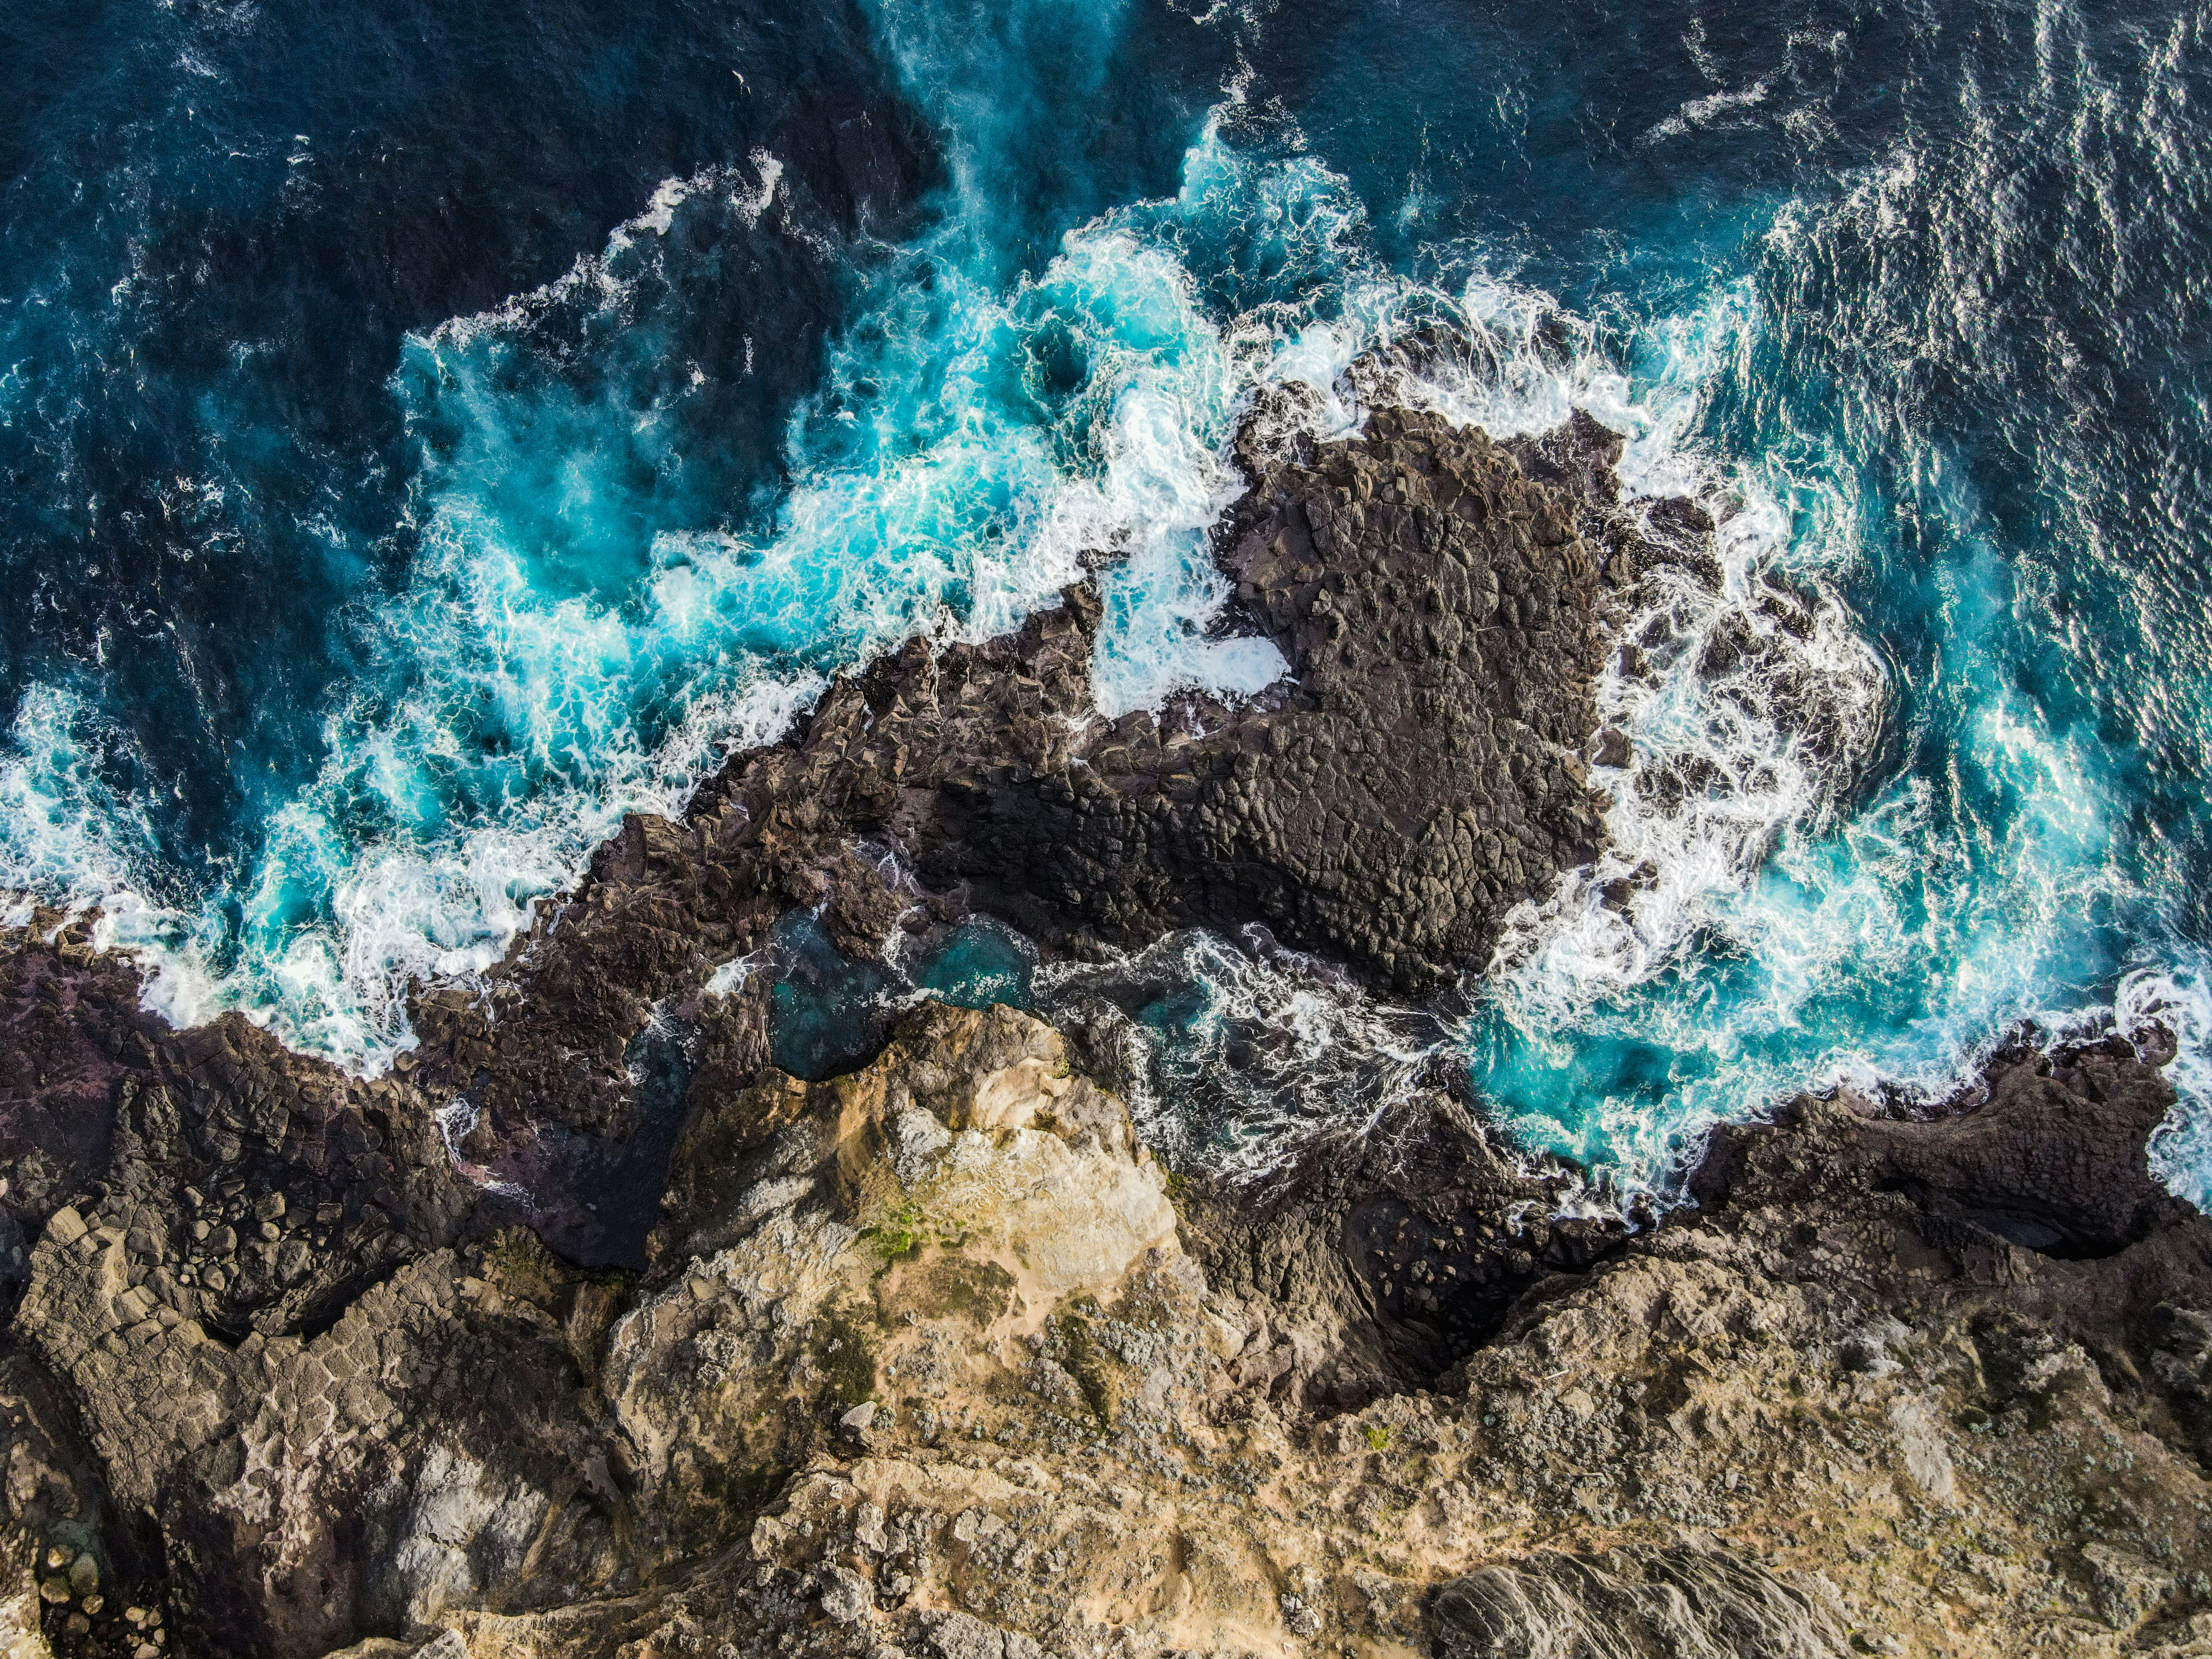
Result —
[{"label": "entire rocky coastline, tan cliffs together with the dark jutting outcrop", "polygon": [[0,940],[0,1655],[2212,1655],[2154,1046],[1805,1095],[1630,1225],[1449,1077],[1254,1192],[1082,1020],[794,1071],[776,975],[712,989],[792,918],[993,918],[1436,998],[1590,863],[1593,681],[1703,511],[1630,511],[1586,416],[1283,400],[1234,456],[1267,695],[1104,719],[1088,586],[916,641],[418,987],[383,1077],[168,1029],[91,918]]}]

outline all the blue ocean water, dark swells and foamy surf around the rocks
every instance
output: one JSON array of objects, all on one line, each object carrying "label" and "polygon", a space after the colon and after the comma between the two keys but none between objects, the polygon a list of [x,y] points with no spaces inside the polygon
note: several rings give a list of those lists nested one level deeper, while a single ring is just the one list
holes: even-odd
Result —
[{"label": "all the blue ocean water, dark swells and foamy surf around the rocks", "polygon": [[[411,975],[498,960],[622,812],[914,633],[1104,557],[1110,710],[1265,686],[1206,626],[1256,385],[1327,431],[1584,407],[1639,498],[1714,511],[1725,580],[1630,622],[1613,849],[1460,1004],[1263,938],[794,938],[794,1064],[832,1004],[1104,1002],[1177,1157],[1265,1172],[1464,1066],[1531,1148],[1666,1192],[1798,1088],[1940,1097],[2022,1022],[2157,1020],[2203,1199],[2208,27],[27,0],[0,887],[97,902],[175,1020],[378,1068]],[[1462,363],[1347,374],[1431,323]]]}]

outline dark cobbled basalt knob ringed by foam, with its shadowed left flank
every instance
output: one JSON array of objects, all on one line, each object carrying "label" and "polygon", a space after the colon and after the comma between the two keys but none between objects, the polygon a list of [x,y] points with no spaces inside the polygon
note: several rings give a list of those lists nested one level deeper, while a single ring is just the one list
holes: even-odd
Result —
[{"label": "dark cobbled basalt knob ringed by foam, with its shadowed left flank", "polygon": [[953,792],[922,869],[1046,936],[1256,920],[1398,991],[1480,969],[1597,852],[1601,588],[1571,504],[1478,431],[1380,411],[1267,467],[1219,544],[1290,681],[1186,743],[1124,721]]}]

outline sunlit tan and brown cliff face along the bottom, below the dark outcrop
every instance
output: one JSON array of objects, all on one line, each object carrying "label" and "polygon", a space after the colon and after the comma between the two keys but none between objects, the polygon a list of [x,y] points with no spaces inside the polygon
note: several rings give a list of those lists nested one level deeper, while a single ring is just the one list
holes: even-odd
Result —
[{"label": "sunlit tan and brown cliff face along the bottom, below the dark outcrop", "polygon": [[[102,1451],[38,1467],[155,1493],[161,1621],[80,1613],[80,1553],[139,1586],[53,1486],[24,1542],[71,1568],[33,1582],[77,1650],[133,1652],[2212,1646],[2212,1223],[2095,1232],[2143,1188],[2163,1055],[2000,1062],[1955,1121],[1840,1097],[1730,1130],[1703,1210],[1356,1411],[1301,1400],[1296,1349],[1347,1338],[1325,1274],[1285,1245],[1274,1292],[1217,1283],[1214,1201],[1068,1055],[927,1004],[858,1073],[763,1068],[697,1119],[637,1281],[504,1232],[237,1349],[142,1316],[115,1230],[55,1212],[18,1332],[100,1329],[64,1371]],[[1858,1179],[1962,1139],[1940,1188]],[[2024,1188],[2057,1144],[2086,1186]],[[2028,1199],[2104,1245],[2017,1243]],[[212,1425],[181,1458],[179,1416]]]}]

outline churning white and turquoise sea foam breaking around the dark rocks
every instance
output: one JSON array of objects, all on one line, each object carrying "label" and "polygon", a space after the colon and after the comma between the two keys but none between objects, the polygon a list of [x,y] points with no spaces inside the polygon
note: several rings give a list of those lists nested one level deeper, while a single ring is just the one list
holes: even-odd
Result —
[{"label": "churning white and turquoise sea foam breaking around the dark rocks", "polygon": [[[1177,197],[1077,228],[1035,276],[978,279],[964,261],[978,223],[905,250],[792,422],[774,522],[734,509],[670,522],[644,568],[611,582],[509,513],[502,469],[522,451],[555,460],[520,495],[557,495],[562,533],[582,522],[588,542],[593,511],[624,489],[619,445],[602,442],[613,414],[562,405],[557,387],[518,398],[504,367],[564,307],[602,334],[641,327],[646,276],[681,257],[681,215],[827,252],[774,157],[664,181],[555,283],[411,343],[447,422],[411,504],[418,571],[367,626],[387,672],[332,710],[332,761],[274,814],[250,878],[164,902],[148,823],[108,783],[117,739],[46,688],[24,699],[0,763],[0,885],[102,902],[104,936],[146,951],[150,995],[177,1020],[241,1006],[290,1042],[378,1066],[409,1042],[409,980],[500,960],[622,812],[681,810],[701,772],[781,732],[825,672],[916,630],[1002,633],[1106,555],[1108,712],[1265,686],[1281,672],[1272,646],[1210,637],[1225,595],[1206,538],[1239,489],[1223,458],[1237,411],[1263,383],[1296,380],[1321,398],[1323,436],[1383,400],[1495,436],[1586,409],[1626,436],[1630,511],[1668,495],[1712,511],[1721,582],[1661,571],[1637,591],[1624,637],[1644,661],[1615,659],[1597,692],[1632,745],[1599,774],[1610,847],[1511,920],[1464,1031],[1447,1037],[1312,964],[1181,936],[1117,967],[1194,995],[1177,1037],[1133,1029],[1144,1075],[1177,1091],[1139,1097],[1148,1135],[1256,1179],[1303,1137],[1378,1121],[1442,1042],[1533,1146],[1663,1188],[1721,1117],[1823,1079],[1936,1093],[2008,1022],[2093,1002],[2077,980],[2095,969],[2070,960],[2079,918],[2130,898],[2104,856],[2112,803],[2086,739],[1980,695],[2002,684],[1995,555],[1947,575],[1951,701],[1907,734],[1969,757],[1973,785],[1916,774],[1851,796],[1893,688],[1838,597],[1867,533],[1832,482],[1847,467],[1723,460],[1697,436],[1759,338],[1759,296],[1723,288],[1624,347],[1491,272],[1405,281],[1367,254],[1338,175],[1294,142],[1261,153],[1225,137],[1245,115],[1232,93]],[[984,188],[982,161],[967,157],[964,188]],[[1869,184],[1845,210],[1891,212],[1900,190],[1909,179]],[[1785,215],[1774,234],[1787,248],[1812,232]],[[1270,283],[1232,276],[1261,268]],[[1389,361],[1376,347],[1431,325],[1460,347],[1374,372]],[[681,462],[655,449],[664,418],[661,403],[619,409],[622,440],[655,467]],[[1734,666],[1714,666],[1721,644]],[[507,748],[487,752],[487,734]],[[2002,810],[1980,803],[1984,785]],[[243,938],[217,920],[232,898]],[[745,971],[726,964],[710,989]],[[1082,971],[1040,982],[1048,1004],[1084,993]],[[2172,1075],[2188,1106],[2159,1141],[2177,1181],[2212,1168],[2201,987],[2148,964],[2112,1011],[2124,1031],[2159,1018],[2183,1037]],[[1225,1064],[1237,1044],[1256,1046]],[[1648,1084],[1621,1082],[1639,1068]]]}]

